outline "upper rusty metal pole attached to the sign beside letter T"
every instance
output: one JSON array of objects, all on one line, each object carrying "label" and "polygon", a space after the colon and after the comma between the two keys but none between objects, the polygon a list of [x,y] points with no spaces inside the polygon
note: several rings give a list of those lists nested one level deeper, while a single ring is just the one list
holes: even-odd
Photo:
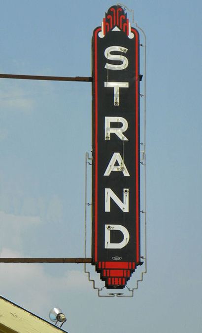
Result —
[{"label": "upper rusty metal pole attached to the sign beside letter T", "polygon": [[92,77],[76,76],[41,76],[41,75],[19,75],[19,74],[0,74],[2,79],[23,79],[23,80],[48,80],[48,81],[77,81],[77,82],[92,82]]}]

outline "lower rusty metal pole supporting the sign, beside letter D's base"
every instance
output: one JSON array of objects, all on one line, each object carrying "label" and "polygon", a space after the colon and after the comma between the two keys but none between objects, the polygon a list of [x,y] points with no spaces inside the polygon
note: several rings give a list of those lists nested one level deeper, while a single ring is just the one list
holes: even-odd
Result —
[{"label": "lower rusty metal pole supporting the sign, beside letter D's base", "polygon": [[73,262],[73,263],[91,263],[92,258],[0,258],[0,262]]}]

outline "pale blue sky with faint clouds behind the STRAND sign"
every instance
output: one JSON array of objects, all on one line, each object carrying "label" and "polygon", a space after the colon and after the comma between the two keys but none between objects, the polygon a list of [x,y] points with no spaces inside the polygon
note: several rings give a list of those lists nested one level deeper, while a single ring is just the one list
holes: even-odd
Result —
[{"label": "pale blue sky with faint clouds behind the STRAND sign", "polygon": [[[91,76],[113,4],[0,0],[0,73]],[[46,320],[61,307],[70,333],[201,333],[202,2],[125,4],[147,36],[148,273],[134,298],[99,298],[82,264],[0,264],[0,294]],[[0,79],[2,257],[84,255],[86,151],[91,83]]]}]

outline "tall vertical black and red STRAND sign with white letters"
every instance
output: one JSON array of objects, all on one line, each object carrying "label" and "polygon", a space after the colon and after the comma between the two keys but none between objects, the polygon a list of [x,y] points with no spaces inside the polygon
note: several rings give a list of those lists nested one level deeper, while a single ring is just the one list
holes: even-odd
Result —
[{"label": "tall vertical black and red STRAND sign with white letters", "polygon": [[94,30],[92,263],[107,289],[140,265],[139,34],[119,5]]}]

